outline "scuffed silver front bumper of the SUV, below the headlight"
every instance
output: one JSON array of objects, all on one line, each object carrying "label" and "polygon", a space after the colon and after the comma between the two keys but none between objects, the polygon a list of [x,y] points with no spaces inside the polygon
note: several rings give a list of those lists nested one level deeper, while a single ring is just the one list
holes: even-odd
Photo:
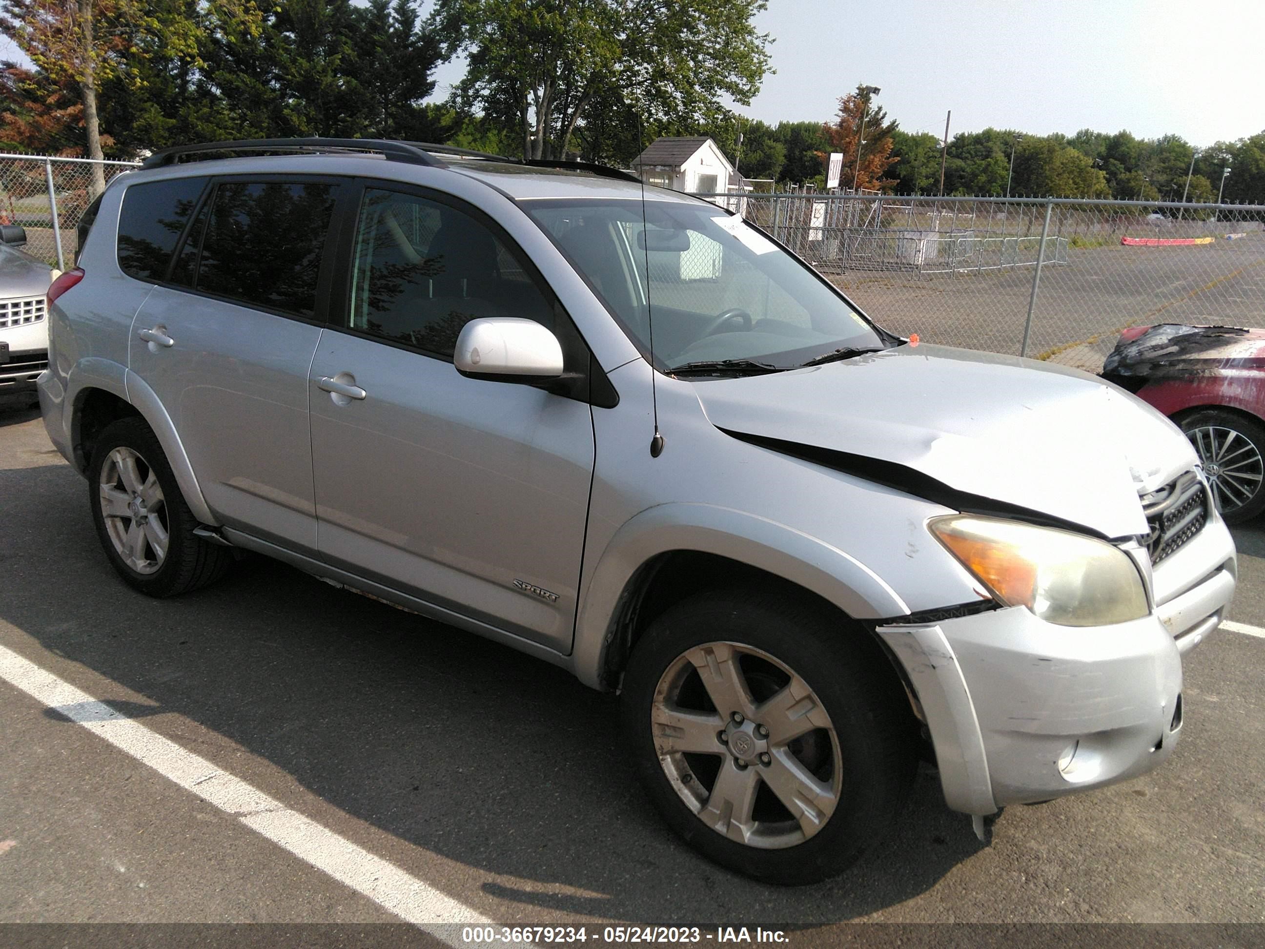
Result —
[{"label": "scuffed silver front bumper of the SUV, below the headlight", "polygon": [[1156,571],[1152,590],[1150,615],[1112,626],[1056,626],[1008,607],[878,628],[921,706],[953,810],[993,814],[1168,758],[1182,733],[1180,654],[1219,625],[1233,596],[1235,550],[1219,519]]}]

